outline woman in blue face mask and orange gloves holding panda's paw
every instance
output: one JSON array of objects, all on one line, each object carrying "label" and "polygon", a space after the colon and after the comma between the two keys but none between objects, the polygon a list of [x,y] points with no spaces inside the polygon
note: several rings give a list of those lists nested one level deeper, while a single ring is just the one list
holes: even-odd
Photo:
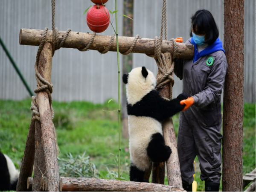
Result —
[{"label": "woman in blue face mask and orange gloves holding panda's paw", "polygon": [[[194,160],[198,156],[206,192],[218,192],[221,179],[221,91],[227,59],[212,14],[201,9],[191,17],[192,60],[175,59],[174,73],[183,80],[189,98],[180,112],[178,155],[183,188],[192,192]],[[177,40],[183,41],[182,38]],[[185,111],[186,110],[186,111]]]}]

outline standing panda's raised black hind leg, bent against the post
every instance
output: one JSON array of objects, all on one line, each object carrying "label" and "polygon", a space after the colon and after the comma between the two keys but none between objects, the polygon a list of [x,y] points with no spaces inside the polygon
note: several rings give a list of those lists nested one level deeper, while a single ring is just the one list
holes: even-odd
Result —
[{"label": "standing panda's raised black hind leg, bent against the post", "polygon": [[153,134],[147,148],[148,157],[154,163],[164,162],[169,159],[172,150],[165,145],[163,136],[160,133]]}]

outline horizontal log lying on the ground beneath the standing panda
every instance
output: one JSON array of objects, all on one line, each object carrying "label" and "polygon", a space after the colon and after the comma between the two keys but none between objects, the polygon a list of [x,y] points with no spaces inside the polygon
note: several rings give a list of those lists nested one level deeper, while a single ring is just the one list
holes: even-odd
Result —
[{"label": "horizontal log lying on the ground beneath the standing panda", "polygon": [[[32,189],[33,177],[27,179],[28,189]],[[185,192],[174,186],[155,183],[140,183],[125,180],[107,180],[97,178],[61,177],[61,192]]]}]

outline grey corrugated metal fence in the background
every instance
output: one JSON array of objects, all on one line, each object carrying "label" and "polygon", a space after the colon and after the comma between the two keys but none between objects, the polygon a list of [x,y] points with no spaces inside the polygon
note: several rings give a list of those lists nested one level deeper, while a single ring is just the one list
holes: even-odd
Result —
[{"label": "grey corrugated metal fence in the background", "polygon": [[[118,15],[123,13],[123,0],[118,0]],[[56,0],[55,27],[60,31],[68,28],[77,32],[90,32],[84,10],[93,3],[90,0]],[[244,101],[255,99],[255,0],[244,3]],[[107,9],[114,10],[114,1],[106,3]],[[168,38],[189,38],[190,17],[198,9],[212,12],[219,27],[220,38],[224,33],[224,0],[168,0]],[[161,0],[134,0],[134,36],[143,38],[160,36],[162,16]],[[118,17],[119,36],[122,35],[122,16]],[[0,36],[32,89],[36,87],[35,58],[38,47],[19,45],[21,28],[51,29],[50,0],[0,0]],[[100,35],[111,35],[111,26]],[[132,53],[134,54],[134,53]],[[157,73],[153,58],[134,54],[134,67],[146,66]],[[234,61],[235,62],[235,61]],[[120,58],[122,71],[122,55]],[[121,74],[122,75],[122,74]],[[52,98],[57,101],[86,100],[104,102],[117,99],[116,52],[100,54],[89,50],[59,49],[52,59]],[[173,97],[182,91],[182,81],[175,77]],[[29,93],[17,76],[3,49],[0,48],[0,99],[20,100]]]}]

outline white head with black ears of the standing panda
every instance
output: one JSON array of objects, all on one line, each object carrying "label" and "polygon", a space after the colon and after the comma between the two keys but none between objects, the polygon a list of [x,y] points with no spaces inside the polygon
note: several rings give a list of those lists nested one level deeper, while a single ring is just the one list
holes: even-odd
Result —
[{"label": "white head with black ears of the standing panda", "polygon": [[139,102],[151,90],[154,90],[157,79],[154,74],[145,67],[137,67],[122,77],[126,84],[126,96],[128,104]]}]

